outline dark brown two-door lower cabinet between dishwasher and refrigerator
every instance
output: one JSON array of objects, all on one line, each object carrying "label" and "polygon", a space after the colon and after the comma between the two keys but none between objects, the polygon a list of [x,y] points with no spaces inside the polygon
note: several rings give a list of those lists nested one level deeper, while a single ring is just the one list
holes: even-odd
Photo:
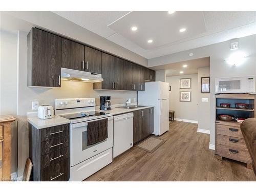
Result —
[{"label": "dark brown two-door lower cabinet between dishwasher and refrigerator", "polygon": [[133,143],[137,143],[154,132],[154,108],[133,112]]}]

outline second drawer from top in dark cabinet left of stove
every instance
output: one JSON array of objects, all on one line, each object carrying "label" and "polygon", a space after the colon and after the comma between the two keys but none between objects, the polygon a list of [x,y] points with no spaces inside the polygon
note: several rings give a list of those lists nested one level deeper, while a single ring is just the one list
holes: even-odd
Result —
[{"label": "second drawer from top in dark cabinet left of stove", "polygon": [[69,136],[41,142],[41,155],[45,155],[69,146]]}]

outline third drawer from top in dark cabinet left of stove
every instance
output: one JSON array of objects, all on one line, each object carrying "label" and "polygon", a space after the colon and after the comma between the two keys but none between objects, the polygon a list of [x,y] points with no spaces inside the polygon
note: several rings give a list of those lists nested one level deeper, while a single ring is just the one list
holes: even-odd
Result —
[{"label": "third drawer from top in dark cabinet left of stove", "polygon": [[69,158],[69,147],[41,156],[41,168],[46,168],[52,164]]}]

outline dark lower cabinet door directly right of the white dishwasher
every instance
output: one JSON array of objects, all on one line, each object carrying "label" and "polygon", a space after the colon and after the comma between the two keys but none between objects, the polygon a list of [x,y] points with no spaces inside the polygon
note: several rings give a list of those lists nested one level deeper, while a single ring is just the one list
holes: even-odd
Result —
[{"label": "dark lower cabinet door directly right of the white dishwasher", "polygon": [[136,143],[142,139],[141,119],[142,119],[142,110],[134,111],[133,112],[133,143]]}]

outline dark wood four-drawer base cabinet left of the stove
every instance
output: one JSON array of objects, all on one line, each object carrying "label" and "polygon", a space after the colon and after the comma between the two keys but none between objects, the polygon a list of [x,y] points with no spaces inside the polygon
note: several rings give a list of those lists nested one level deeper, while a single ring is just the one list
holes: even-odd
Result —
[{"label": "dark wood four-drawer base cabinet left of the stove", "polygon": [[29,123],[31,180],[69,180],[69,124],[36,129]]}]

